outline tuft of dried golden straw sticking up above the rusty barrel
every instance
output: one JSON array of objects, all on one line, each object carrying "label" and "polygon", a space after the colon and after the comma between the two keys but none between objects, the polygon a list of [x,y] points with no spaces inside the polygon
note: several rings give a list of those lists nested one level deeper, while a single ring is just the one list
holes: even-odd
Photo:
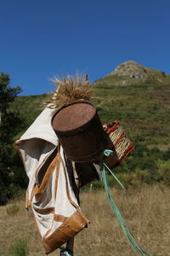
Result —
[{"label": "tuft of dried golden straw sticking up above the rusty barrel", "polygon": [[91,101],[92,90],[89,88],[88,76],[84,75],[64,77],[62,80],[54,79],[58,89],[53,98],[48,102],[50,108],[55,110],[62,108],[65,104],[77,101]]}]

